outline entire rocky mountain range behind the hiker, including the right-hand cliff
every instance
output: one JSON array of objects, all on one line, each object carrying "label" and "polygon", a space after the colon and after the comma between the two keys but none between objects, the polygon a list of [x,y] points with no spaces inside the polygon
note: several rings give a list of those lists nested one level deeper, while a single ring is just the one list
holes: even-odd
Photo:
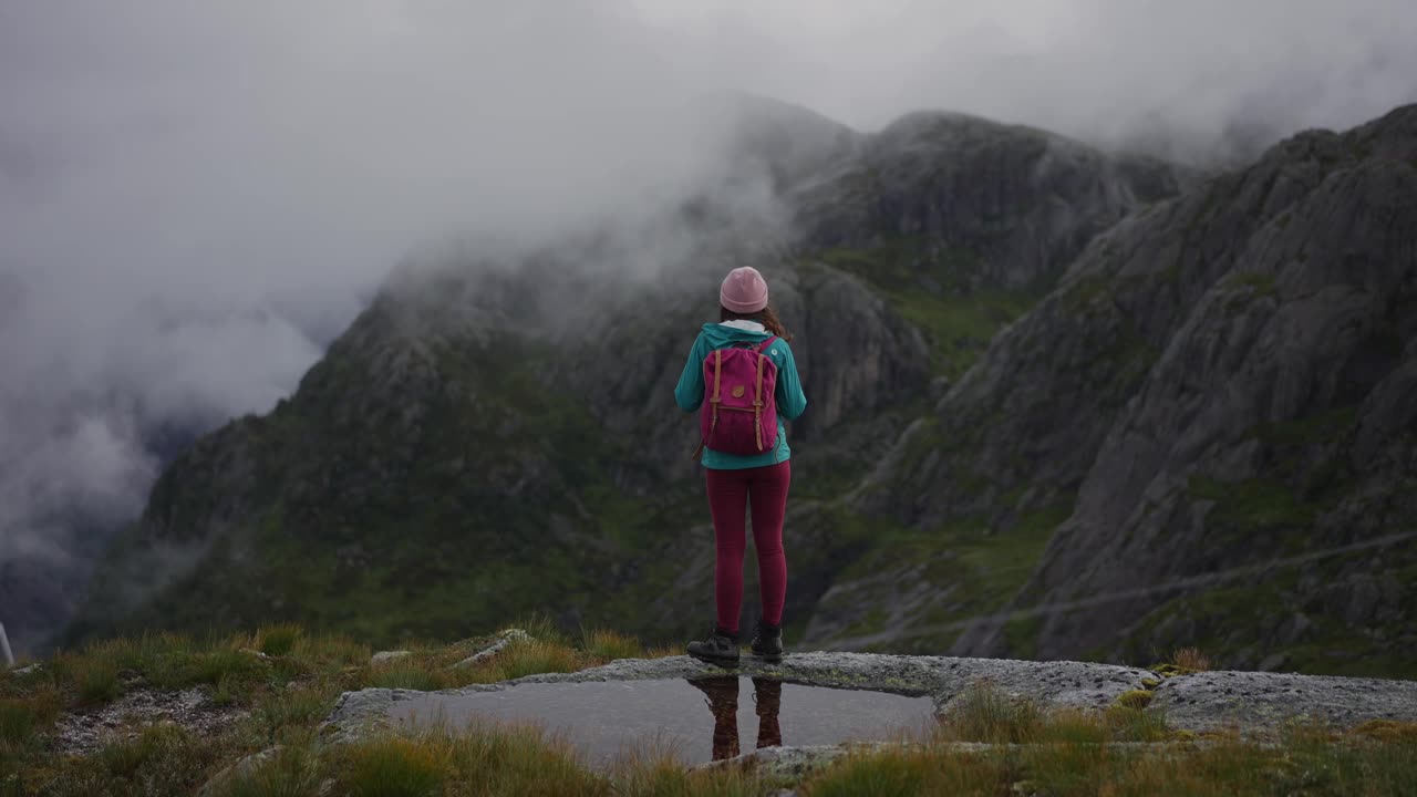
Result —
[{"label": "entire rocky mountain range behind the hiker, including the right-hand cliff", "polygon": [[[1202,182],[962,115],[862,135],[769,105],[726,187],[648,223],[401,269],[288,401],[167,469],[71,637],[288,617],[394,640],[527,611],[697,630],[711,533],[669,389],[751,264],[811,401],[789,634],[1346,671],[1301,648],[1376,590],[1387,635],[1362,655],[1391,669],[1411,570],[1304,556],[1410,516],[1414,116]],[[771,213],[733,190],[754,174]],[[1223,590],[1257,580],[1214,574],[1277,557],[1255,572],[1294,569],[1289,591],[1260,580],[1280,608],[1231,628],[1260,594]]]}]

